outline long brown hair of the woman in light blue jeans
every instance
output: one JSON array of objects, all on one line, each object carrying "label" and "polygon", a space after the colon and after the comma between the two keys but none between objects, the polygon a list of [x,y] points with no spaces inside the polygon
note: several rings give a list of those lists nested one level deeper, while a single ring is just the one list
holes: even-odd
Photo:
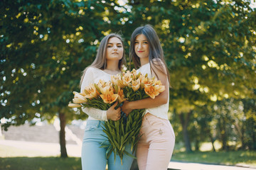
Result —
[{"label": "long brown hair of the woman in light blue jeans", "polygon": [[[121,40],[122,47],[124,48],[124,40],[122,39],[121,35],[119,35],[117,33],[111,33],[111,34],[105,36],[105,38],[103,38],[100,41],[100,46],[98,47],[97,55],[96,55],[95,60],[88,67],[95,67],[97,69],[102,69],[102,70],[106,69],[106,67],[107,67],[107,59],[106,59],[107,42],[108,42],[108,40],[110,40],[110,38],[113,38],[113,37],[116,37],[119,40]],[[118,62],[118,68],[121,69],[123,64],[126,64],[125,52],[123,52],[122,59],[119,60],[119,62]],[[84,71],[82,71],[82,77],[81,77],[81,80],[80,80],[80,86],[82,85],[82,80],[85,77],[85,72],[86,72],[88,67],[86,67],[84,69]]]}]

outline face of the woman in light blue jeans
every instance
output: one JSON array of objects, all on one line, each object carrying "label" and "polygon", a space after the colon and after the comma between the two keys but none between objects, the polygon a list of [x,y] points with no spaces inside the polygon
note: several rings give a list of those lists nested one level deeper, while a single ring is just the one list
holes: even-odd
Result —
[{"label": "face of the woman in light blue jeans", "polygon": [[124,47],[119,38],[112,37],[107,42],[106,59],[121,60],[123,57]]}]

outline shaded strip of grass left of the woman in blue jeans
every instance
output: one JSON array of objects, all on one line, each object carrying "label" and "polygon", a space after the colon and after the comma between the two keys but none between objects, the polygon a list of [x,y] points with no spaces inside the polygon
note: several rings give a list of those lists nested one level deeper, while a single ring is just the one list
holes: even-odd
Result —
[{"label": "shaded strip of grass left of the woman in blue jeans", "polygon": [[[97,161],[97,160],[95,160]],[[0,157],[2,170],[80,170],[78,157]]]}]

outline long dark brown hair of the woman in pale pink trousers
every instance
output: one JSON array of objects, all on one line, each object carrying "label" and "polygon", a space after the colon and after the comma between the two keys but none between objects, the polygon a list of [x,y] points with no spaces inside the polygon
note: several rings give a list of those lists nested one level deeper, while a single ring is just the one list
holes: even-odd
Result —
[{"label": "long dark brown hair of the woman in pale pink trousers", "polygon": [[[141,35],[141,34],[145,35],[147,41],[149,42],[149,64],[150,64],[151,72],[153,71],[154,74],[156,74],[156,71],[154,69],[152,69],[151,64],[154,64],[154,66],[160,66],[161,69],[159,67],[155,67],[155,68],[159,69],[159,71],[166,74],[166,76],[168,77],[168,80],[170,82],[169,71],[168,71],[166,62],[164,61],[164,51],[163,51],[163,48],[161,47],[159,37],[158,37],[156,31],[154,30],[154,28],[148,24],[145,26],[136,28],[134,30],[134,32],[132,33],[131,45],[129,47],[129,65],[130,65],[130,67],[131,67],[132,61],[134,62],[135,69],[141,67],[139,57],[136,55],[136,52],[134,50],[135,39],[136,39],[137,35]],[[164,63],[165,67],[163,67],[162,63]],[[156,74],[156,77],[159,78],[157,76],[157,74]]]}]

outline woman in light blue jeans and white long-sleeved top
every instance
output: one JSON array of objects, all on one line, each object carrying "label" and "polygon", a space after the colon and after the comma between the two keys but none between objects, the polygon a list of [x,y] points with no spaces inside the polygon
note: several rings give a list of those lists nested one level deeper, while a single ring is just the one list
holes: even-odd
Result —
[{"label": "woman in light blue jeans and white long-sleeved top", "polygon": [[[105,36],[100,42],[95,61],[83,71],[80,89],[81,93],[85,86],[97,84],[98,81],[110,81],[111,76],[121,72],[122,64],[126,64],[124,57],[124,42],[120,35],[112,33]],[[124,155],[121,165],[120,157],[116,157],[114,162],[114,153],[110,158],[106,158],[107,148],[100,147],[102,142],[106,141],[103,136],[102,123],[107,120],[119,120],[121,109],[114,107],[114,103],[107,111],[97,108],[82,108],[82,111],[89,115],[85,134],[82,141],[82,169],[83,170],[105,170],[108,164],[109,170],[128,170],[132,165],[132,157]],[[127,152],[132,153],[127,148]]]}]

